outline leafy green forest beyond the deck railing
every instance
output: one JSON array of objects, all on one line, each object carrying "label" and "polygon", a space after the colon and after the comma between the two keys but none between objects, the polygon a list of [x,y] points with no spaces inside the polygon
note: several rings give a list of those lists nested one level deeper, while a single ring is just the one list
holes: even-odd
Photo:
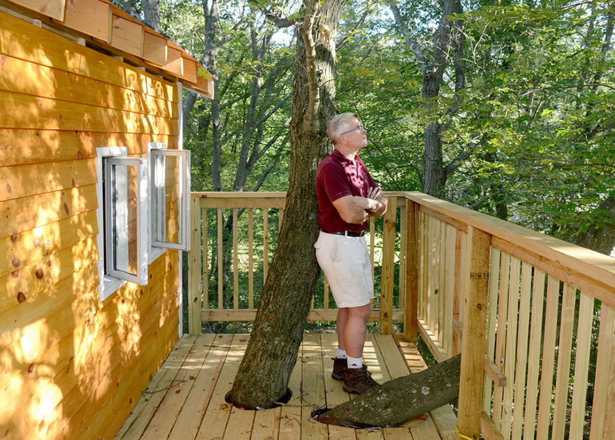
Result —
[{"label": "leafy green forest beyond the deck railing", "polygon": [[[122,6],[217,75],[213,100],[184,91],[191,190],[286,191],[301,1]],[[360,155],[384,191],[424,191],[615,256],[614,17],[614,0],[348,0],[335,102],[361,115]]]}]

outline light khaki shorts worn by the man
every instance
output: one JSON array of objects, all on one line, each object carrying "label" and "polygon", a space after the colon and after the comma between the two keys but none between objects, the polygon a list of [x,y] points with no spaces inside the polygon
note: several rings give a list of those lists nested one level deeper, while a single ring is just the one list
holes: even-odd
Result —
[{"label": "light khaki shorts worn by the man", "polygon": [[321,231],[314,248],[335,304],[340,309],[369,304],[374,298],[374,281],[365,238]]}]

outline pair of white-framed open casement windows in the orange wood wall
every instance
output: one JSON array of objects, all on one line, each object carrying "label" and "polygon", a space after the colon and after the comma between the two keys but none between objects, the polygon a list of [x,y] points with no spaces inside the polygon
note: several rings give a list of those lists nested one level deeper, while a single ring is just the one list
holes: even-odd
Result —
[{"label": "pair of white-framed open casement windows in the orange wood wall", "polygon": [[126,282],[147,284],[147,265],[165,249],[189,249],[190,152],[159,142],[148,149],[148,159],[96,149],[101,301]]}]

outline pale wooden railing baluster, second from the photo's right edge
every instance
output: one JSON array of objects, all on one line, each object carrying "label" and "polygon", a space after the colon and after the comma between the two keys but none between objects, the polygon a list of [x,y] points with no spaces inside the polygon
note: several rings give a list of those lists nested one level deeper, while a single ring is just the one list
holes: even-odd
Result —
[{"label": "pale wooden railing baluster, second from the photo's right edge", "polygon": [[581,292],[579,321],[577,326],[577,347],[574,361],[574,388],[572,391],[572,413],[570,415],[569,438],[583,438],[585,425],[585,401],[587,397],[589,350],[593,321],[593,298]]}]

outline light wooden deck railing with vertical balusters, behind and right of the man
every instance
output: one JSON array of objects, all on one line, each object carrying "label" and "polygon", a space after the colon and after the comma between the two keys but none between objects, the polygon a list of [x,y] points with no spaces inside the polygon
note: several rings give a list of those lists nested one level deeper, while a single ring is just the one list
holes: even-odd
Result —
[{"label": "light wooden deck railing with vertical balusters, behind and right of the man", "polygon": [[[384,333],[395,321],[409,340],[418,331],[438,361],[462,353],[459,432],[514,440],[612,435],[615,259],[422,193],[386,195],[389,211],[368,237],[380,278],[372,318]],[[248,277],[257,259],[266,277],[284,193],[193,193],[191,206],[190,332],[201,331],[201,320],[253,320],[256,289],[249,281],[241,307],[238,255],[247,252]],[[224,210],[238,218],[241,208],[247,246],[241,221],[231,222],[233,293],[225,304],[223,249],[214,242],[224,238]],[[208,293],[213,251],[217,302]],[[310,319],[333,320],[326,284],[317,302]]]}]

